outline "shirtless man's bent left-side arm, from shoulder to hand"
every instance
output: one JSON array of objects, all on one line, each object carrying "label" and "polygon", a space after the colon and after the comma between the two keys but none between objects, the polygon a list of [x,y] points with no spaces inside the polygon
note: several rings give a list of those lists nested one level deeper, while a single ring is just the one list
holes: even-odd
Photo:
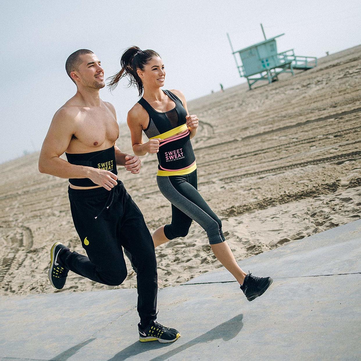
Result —
[{"label": "shirtless man's bent left-side arm, from shoulder to hand", "polygon": [[59,178],[90,178],[95,184],[110,190],[117,184],[117,175],[108,170],[74,165],[60,156],[69,146],[75,133],[74,117],[67,109],[59,109],[51,122],[39,156],[39,171]]}]

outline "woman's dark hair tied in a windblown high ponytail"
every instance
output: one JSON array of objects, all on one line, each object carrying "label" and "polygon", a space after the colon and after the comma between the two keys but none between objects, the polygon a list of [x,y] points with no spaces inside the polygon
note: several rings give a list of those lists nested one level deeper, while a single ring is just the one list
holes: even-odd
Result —
[{"label": "woman's dark hair tied in a windblown high ponytail", "polygon": [[117,87],[119,80],[127,76],[129,78],[128,86],[136,86],[139,91],[139,96],[141,96],[143,93],[143,83],[136,71],[137,69],[144,70],[144,65],[148,64],[149,60],[155,56],[160,57],[154,50],[148,49],[142,51],[137,46],[126,49],[120,59],[122,69],[119,73],[108,78],[110,79],[110,82],[108,83],[110,90],[114,90]]}]

